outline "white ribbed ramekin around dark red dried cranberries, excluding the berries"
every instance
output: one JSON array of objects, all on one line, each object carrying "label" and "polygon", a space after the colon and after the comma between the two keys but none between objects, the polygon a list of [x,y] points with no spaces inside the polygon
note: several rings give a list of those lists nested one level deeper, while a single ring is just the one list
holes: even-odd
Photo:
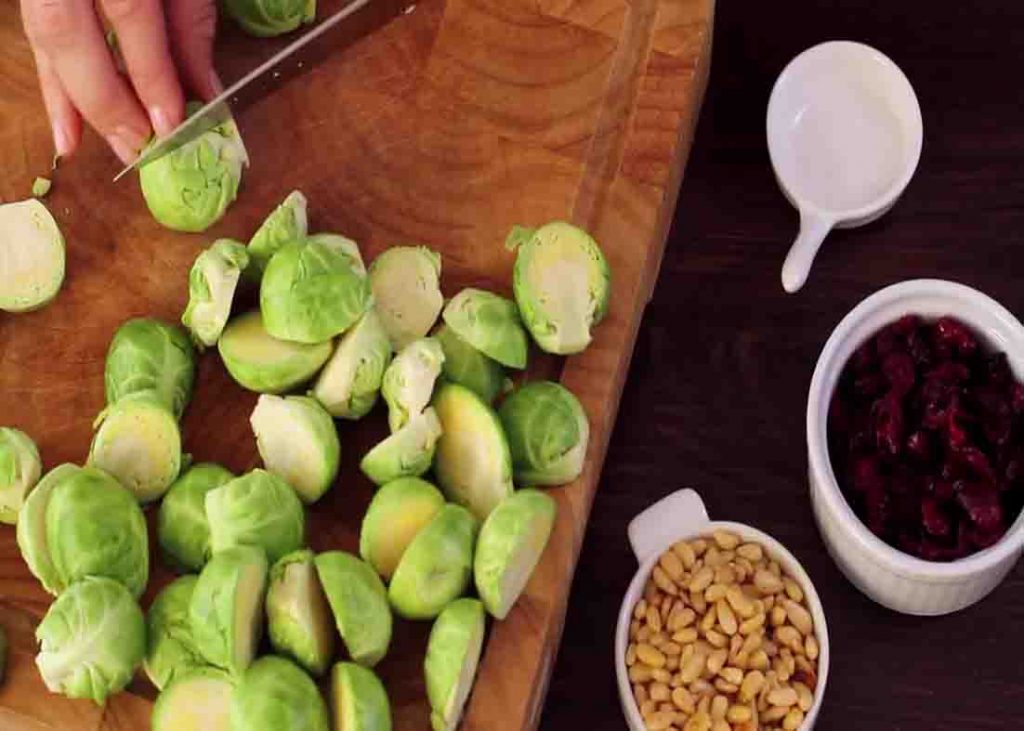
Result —
[{"label": "white ribbed ramekin around dark red dried cranberries, excluding the berries", "polygon": [[818,358],[807,398],[811,505],[828,553],[840,569],[879,604],[906,614],[937,615],[982,599],[1002,580],[1024,550],[1024,514],[994,546],[948,563],[925,561],[892,548],[854,514],[828,458],[828,406],[847,360],[863,342],[904,314],[954,315],[988,348],[1007,354],[1024,375],[1024,326],[998,302],[952,282],[914,280],[876,292],[833,331]]}]

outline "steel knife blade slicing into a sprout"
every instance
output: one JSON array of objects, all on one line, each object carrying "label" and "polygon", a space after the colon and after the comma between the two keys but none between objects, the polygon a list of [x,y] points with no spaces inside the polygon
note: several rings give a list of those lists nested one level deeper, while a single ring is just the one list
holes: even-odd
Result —
[{"label": "steel knife blade slicing into a sprout", "polygon": [[369,4],[369,2],[370,0],[353,0],[353,2],[331,15],[331,17],[324,20],[324,23],[318,25],[316,28],[282,48],[266,61],[260,63],[258,67],[217,94],[217,96],[207,102],[206,105],[200,109],[196,114],[179,124],[173,132],[165,137],[161,137],[155,143],[146,147],[145,150],[143,150],[138,158],[135,159],[134,163],[126,167],[114,177],[114,182],[120,180],[126,173],[135,170],[146,163],[152,163],[158,158],[162,158],[172,149],[191,141],[203,132],[229,120],[231,118],[231,111],[227,105],[228,99],[238,94],[253,81],[263,76],[263,74],[270,71],[275,66],[279,66],[283,60],[294,55],[302,48],[305,48],[346,17],[354,14],[365,5]]}]

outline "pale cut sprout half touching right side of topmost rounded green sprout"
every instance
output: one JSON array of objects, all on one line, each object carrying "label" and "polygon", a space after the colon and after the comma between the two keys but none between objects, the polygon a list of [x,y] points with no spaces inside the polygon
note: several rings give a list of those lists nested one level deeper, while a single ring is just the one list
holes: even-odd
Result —
[{"label": "pale cut sprout half touching right side of topmost rounded green sprout", "polygon": [[423,246],[396,246],[370,266],[370,286],[381,322],[397,352],[434,327],[444,306],[441,257]]}]

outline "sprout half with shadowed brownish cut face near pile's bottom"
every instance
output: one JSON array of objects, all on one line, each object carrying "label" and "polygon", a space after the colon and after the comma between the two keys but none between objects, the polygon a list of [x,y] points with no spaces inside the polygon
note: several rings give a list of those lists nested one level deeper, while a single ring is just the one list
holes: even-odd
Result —
[{"label": "sprout half with shadowed brownish cut face near pile's bottom", "polygon": [[295,551],[273,564],[266,620],[273,649],[310,674],[324,675],[334,654],[334,628],[312,551]]}]

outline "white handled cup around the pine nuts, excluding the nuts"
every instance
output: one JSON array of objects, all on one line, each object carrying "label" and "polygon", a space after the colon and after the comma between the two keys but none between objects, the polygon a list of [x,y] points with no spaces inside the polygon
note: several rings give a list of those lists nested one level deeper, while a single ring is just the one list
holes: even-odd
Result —
[{"label": "white handled cup around the pine nuts, excluding the nuts", "polygon": [[818,593],[814,590],[807,572],[800,562],[775,539],[757,528],[742,523],[712,521],[708,517],[700,497],[691,489],[681,489],[663,498],[647,508],[630,522],[629,536],[633,553],[640,567],[633,576],[633,582],[623,598],[618,610],[618,624],[615,627],[615,676],[618,681],[618,696],[623,704],[623,713],[631,731],[646,731],[640,709],[633,697],[629,674],[626,669],[626,648],[630,639],[630,620],[633,608],[640,597],[643,588],[650,576],[658,557],[677,541],[688,541],[701,535],[710,535],[715,530],[728,530],[743,541],[753,541],[764,547],[767,553],[792,576],[804,590],[807,607],[814,619],[814,634],[818,640],[818,684],[814,689],[814,704],[804,718],[801,731],[814,728],[814,723],[821,709],[821,699],[825,693],[825,682],[828,680],[828,628],[825,624],[824,610]]}]

